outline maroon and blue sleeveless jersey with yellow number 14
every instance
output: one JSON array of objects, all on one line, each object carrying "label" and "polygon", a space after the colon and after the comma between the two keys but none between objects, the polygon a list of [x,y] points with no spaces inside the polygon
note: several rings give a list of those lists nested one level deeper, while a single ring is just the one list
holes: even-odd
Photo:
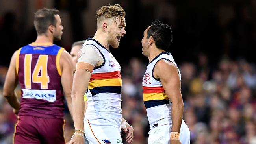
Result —
[{"label": "maroon and blue sleeveless jersey with yellow number 14", "polygon": [[19,116],[63,118],[64,96],[59,65],[63,50],[52,43],[32,43],[18,50]]}]

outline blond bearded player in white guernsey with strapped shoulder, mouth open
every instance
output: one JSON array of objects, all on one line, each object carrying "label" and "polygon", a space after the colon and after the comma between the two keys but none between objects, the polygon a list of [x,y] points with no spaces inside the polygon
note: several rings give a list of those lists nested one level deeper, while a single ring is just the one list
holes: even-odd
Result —
[{"label": "blond bearded player in white guernsey with strapped shoulder, mouth open", "polygon": [[[102,6],[97,12],[97,31],[87,39],[78,53],[77,70],[72,87],[72,104],[76,132],[71,144],[83,144],[83,133],[92,144],[122,141],[120,128],[127,133],[126,141],[133,140],[134,129],[121,110],[121,66],[109,51],[118,48],[124,36],[125,11],[118,5]],[[84,93],[89,88],[88,107],[83,124]]]}]

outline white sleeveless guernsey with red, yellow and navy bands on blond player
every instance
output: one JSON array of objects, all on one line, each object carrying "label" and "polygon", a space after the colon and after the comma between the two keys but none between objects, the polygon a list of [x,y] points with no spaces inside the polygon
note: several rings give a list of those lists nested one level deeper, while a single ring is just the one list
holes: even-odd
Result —
[{"label": "white sleeveless guernsey with red, yellow and navy bands on blond player", "polygon": [[88,89],[88,107],[85,119],[111,118],[121,122],[121,66],[113,55],[95,39],[87,39],[83,47],[90,46],[104,59],[102,65],[94,68]]}]

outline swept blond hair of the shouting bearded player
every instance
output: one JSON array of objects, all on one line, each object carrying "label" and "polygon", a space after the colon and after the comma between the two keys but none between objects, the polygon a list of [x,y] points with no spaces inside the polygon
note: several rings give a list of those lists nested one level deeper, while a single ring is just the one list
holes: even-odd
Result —
[{"label": "swept blond hair of the shouting bearded player", "polygon": [[113,18],[117,20],[117,18],[119,18],[120,23],[124,26],[124,20],[122,17],[125,17],[125,11],[119,4],[102,6],[96,11],[96,16],[97,24],[104,19]]}]

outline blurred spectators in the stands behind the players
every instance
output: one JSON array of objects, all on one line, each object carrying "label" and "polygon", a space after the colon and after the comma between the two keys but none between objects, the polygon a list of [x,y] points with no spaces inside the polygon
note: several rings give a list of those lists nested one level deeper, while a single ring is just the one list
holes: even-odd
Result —
[{"label": "blurred spectators in the stands behind the players", "polygon": [[[122,115],[134,127],[133,144],[147,144],[150,130],[141,86],[146,67],[141,59],[132,58],[121,70]],[[256,143],[255,63],[222,59],[216,68],[210,68],[208,57],[201,54],[198,63],[184,62],[178,67],[182,74],[183,119],[190,129],[191,144]],[[1,84],[5,72],[6,68],[1,68]],[[3,96],[0,105],[0,144],[10,144],[17,118]],[[67,109],[65,120],[68,141],[74,128]],[[125,139],[124,133],[122,137]]]}]

